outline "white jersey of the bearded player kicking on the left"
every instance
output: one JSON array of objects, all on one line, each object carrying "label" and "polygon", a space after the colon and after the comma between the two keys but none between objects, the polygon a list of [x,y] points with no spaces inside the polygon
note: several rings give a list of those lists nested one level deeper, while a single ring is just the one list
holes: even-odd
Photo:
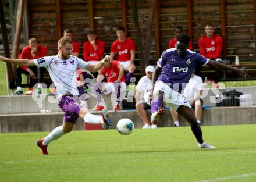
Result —
[{"label": "white jersey of the bearded player kicking on the left", "polygon": [[43,58],[34,59],[37,67],[45,67],[55,84],[58,97],[70,92],[73,95],[79,95],[76,84],[77,68],[86,68],[88,63],[83,59],[71,55],[69,59],[62,60],[55,56],[45,56]]}]

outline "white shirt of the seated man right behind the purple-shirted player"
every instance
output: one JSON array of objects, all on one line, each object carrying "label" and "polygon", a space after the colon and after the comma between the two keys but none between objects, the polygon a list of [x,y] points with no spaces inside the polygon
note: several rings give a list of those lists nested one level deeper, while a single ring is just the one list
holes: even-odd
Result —
[{"label": "white shirt of the seated man right behind the purple-shirted player", "polygon": [[197,95],[198,91],[200,90],[204,90],[202,78],[194,74],[194,77],[190,78],[189,82],[187,83],[183,94],[189,101],[193,101],[195,95]]}]

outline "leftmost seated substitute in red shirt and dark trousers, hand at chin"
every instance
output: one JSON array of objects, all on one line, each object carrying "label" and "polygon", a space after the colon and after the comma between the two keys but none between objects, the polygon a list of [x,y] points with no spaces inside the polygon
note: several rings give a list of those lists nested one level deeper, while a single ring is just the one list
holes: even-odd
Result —
[{"label": "leftmost seated substitute in red shirt and dark trousers, hand at chin", "polygon": [[[22,53],[20,54],[20,59],[38,59],[46,55],[47,49],[41,45],[37,44],[36,38],[29,39],[29,45],[23,48]],[[15,80],[17,84],[17,89],[13,92],[13,95],[21,95],[22,91],[22,73],[29,74],[30,77],[35,77],[35,72],[38,73],[38,83],[42,83],[44,80],[44,68],[37,68],[37,66],[19,66],[15,70]],[[38,94],[42,92],[42,85],[38,84],[37,88]],[[33,85],[30,85],[29,89],[25,92],[26,95],[33,93]]]}]

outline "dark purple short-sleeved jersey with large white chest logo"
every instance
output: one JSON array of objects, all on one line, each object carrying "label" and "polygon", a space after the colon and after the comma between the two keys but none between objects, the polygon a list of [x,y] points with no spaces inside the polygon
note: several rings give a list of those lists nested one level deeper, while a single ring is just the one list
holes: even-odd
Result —
[{"label": "dark purple short-sleeved jersey with large white chest logo", "polygon": [[162,53],[157,64],[162,68],[158,81],[168,84],[170,88],[181,93],[189,82],[196,66],[207,65],[209,59],[187,49],[184,56],[177,55],[177,49],[167,49]]}]

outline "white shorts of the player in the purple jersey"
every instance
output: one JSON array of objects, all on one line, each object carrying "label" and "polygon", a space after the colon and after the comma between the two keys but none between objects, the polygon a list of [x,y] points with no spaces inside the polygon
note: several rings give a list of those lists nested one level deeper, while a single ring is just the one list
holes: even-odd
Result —
[{"label": "white shorts of the player in the purple jersey", "polygon": [[179,92],[172,90],[172,88],[170,88],[162,81],[158,81],[157,83],[155,83],[153,92],[154,98],[158,98],[159,90],[165,93],[163,96],[163,101],[166,102],[166,104],[173,110],[176,111],[181,105],[191,108],[189,101],[183,94],[180,94]]}]

